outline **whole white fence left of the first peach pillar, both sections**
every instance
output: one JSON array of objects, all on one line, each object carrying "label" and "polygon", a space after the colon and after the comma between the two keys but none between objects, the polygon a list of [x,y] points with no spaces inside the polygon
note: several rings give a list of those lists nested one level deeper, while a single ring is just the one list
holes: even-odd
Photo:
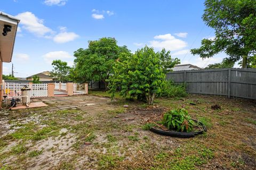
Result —
[{"label": "whole white fence left of the first peach pillar, both sections", "polygon": [[[13,96],[21,96],[21,89],[29,87],[28,82],[5,82],[4,83],[4,96],[12,98]],[[30,97],[47,97],[47,83],[32,84],[30,88]]]}]

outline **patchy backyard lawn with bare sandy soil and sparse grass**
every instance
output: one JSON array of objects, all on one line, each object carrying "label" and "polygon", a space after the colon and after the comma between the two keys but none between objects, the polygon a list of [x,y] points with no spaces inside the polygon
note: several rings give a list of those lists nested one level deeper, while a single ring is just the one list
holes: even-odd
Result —
[{"label": "patchy backyard lawn with bare sandy soil and sparse grass", "polygon": [[[147,107],[107,96],[33,99],[49,107],[1,112],[0,169],[256,169],[255,101],[189,95]],[[181,107],[207,132],[180,139],[143,130]]]}]

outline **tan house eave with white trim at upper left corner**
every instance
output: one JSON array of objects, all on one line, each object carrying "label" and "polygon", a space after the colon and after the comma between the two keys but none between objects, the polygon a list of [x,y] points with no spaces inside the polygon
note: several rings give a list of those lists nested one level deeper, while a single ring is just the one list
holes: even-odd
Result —
[{"label": "tan house eave with white trim at upper left corner", "polygon": [[[13,48],[19,22],[20,20],[14,16],[0,11],[0,55],[3,62],[9,63],[12,61]],[[12,27],[11,31],[7,32],[6,36],[2,35],[4,25],[11,25]]]}]

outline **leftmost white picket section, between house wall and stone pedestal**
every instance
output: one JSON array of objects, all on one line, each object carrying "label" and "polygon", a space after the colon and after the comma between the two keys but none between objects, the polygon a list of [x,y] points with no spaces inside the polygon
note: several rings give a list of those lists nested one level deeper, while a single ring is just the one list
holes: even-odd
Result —
[{"label": "leftmost white picket section, between house wall and stone pedestal", "polygon": [[21,96],[21,89],[29,86],[28,82],[4,82],[4,96],[12,98],[12,96]]}]

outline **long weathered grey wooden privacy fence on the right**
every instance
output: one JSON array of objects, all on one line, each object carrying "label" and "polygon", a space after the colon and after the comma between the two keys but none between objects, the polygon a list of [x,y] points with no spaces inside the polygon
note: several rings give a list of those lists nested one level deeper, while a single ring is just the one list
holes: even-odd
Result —
[{"label": "long weathered grey wooden privacy fence on the right", "polygon": [[167,73],[166,79],[186,83],[193,94],[256,99],[256,69],[175,71]]}]

